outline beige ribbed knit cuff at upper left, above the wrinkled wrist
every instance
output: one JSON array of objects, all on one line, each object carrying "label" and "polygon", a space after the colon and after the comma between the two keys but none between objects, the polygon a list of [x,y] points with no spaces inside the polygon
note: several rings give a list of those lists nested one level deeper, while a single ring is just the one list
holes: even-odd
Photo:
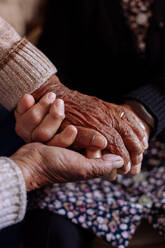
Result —
[{"label": "beige ribbed knit cuff at upper left, above the wrinkled wrist", "polygon": [[34,92],[56,71],[42,52],[21,39],[0,60],[0,104],[14,109],[25,93]]}]

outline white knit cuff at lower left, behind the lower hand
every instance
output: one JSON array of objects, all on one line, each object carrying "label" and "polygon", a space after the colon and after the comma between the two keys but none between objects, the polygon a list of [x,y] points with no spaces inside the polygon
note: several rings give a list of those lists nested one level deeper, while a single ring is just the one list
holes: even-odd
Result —
[{"label": "white knit cuff at lower left, behind the lower hand", "polygon": [[0,158],[0,229],[21,221],[26,210],[26,186],[19,167]]}]

